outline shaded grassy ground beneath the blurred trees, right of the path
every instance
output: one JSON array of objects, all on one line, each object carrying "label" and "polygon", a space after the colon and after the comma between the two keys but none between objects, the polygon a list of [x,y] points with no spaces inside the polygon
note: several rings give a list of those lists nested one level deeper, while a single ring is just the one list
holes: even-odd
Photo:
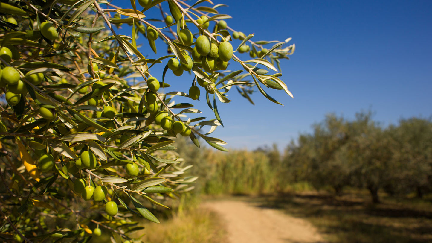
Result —
[{"label": "shaded grassy ground beneath the blurred trees, right of the path", "polygon": [[[383,200],[371,204],[359,194],[335,197],[320,193],[286,193],[257,197],[257,207],[275,208],[306,218],[334,243],[432,242],[432,206],[417,207]],[[426,209],[425,209],[426,208]]]}]

